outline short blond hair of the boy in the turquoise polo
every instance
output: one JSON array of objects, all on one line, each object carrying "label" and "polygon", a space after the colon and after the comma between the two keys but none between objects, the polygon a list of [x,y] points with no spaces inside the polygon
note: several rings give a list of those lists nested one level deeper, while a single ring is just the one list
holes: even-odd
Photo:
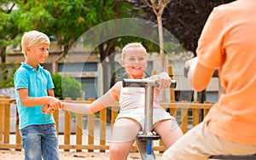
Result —
[{"label": "short blond hair of the boy in the turquoise polo", "polygon": [[49,37],[40,31],[28,31],[21,39],[22,53],[26,55],[26,47],[33,47],[38,43],[49,43]]}]

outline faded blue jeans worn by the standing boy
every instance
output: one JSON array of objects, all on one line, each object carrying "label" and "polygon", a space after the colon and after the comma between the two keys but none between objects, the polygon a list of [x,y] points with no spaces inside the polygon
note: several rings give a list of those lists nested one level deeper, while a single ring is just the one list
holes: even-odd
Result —
[{"label": "faded blue jeans worn by the standing boy", "polygon": [[31,125],[20,129],[25,160],[60,160],[55,124]]}]

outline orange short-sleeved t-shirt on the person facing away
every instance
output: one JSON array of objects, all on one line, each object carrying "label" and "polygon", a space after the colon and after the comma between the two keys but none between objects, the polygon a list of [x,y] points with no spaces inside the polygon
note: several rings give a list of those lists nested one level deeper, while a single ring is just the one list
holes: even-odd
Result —
[{"label": "orange short-sleeved t-shirt on the person facing away", "polygon": [[225,89],[204,120],[208,129],[225,140],[252,145],[256,145],[255,14],[256,0],[214,8],[196,50],[202,66],[219,68]]}]

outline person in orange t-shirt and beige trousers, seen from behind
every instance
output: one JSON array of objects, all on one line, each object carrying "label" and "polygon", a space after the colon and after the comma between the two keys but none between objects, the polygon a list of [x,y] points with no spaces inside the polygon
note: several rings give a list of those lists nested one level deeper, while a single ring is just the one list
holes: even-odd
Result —
[{"label": "person in orange t-shirt and beige trousers, seen from behind", "polygon": [[204,121],[168,148],[163,159],[201,160],[211,155],[256,153],[256,1],[237,0],[212,10],[188,60],[193,89],[207,88],[213,71],[225,89]]}]

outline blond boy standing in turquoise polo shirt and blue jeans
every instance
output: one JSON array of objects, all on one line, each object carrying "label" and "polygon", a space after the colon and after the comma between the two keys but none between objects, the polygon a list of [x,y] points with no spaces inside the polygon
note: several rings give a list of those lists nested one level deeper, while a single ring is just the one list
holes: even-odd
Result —
[{"label": "blond boy standing in turquoise polo shirt and blue jeans", "polygon": [[14,83],[26,160],[60,159],[55,120],[52,114],[41,112],[43,105],[51,106],[51,113],[61,107],[49,71],[40,66],[49,56],[49,44],[49,37],[39,31],[26,32],[21,39],[25,62],[15,72]]}]

